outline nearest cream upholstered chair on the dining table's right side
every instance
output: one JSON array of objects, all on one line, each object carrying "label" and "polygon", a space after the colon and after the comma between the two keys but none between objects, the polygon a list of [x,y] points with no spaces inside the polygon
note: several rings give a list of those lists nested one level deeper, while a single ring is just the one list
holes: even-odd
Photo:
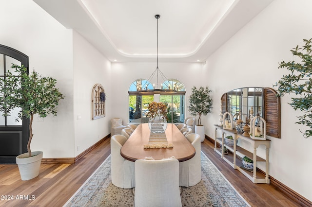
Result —
[{"label": "nearest cream upholstered chair on the dining table's right side", "polygon": [[179,186],[190,187],[201,180],[200,136],[189,134],[186,138],[193,145],[196,153],[191,159],[179,163]]}]

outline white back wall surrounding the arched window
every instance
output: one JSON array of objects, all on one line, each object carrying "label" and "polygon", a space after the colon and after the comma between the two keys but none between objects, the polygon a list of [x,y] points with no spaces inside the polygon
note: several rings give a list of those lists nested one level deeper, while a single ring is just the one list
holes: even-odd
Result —
[{"label": "white back wall surrounding the arched window", "polygon": [[[158,63],[159,69],[167,79],[175,78],[181,81],[186,90],[186,105],[188,105],[188,97],[193,86],[200,86],[202,80],[202,64],[201,63]],[[112,63],[112,117],[123,119],[123,124],[128,124],[128,90],[132,82],[137,79],[148,79],[156,69],[156,59],[152,63]],[[153,81],[155,80],[155,81]],[[151,82],[156,84],[156,75]],[[159,82],[163,82],[160,75]],[[185,117],[189,116],[186,110]]]}]

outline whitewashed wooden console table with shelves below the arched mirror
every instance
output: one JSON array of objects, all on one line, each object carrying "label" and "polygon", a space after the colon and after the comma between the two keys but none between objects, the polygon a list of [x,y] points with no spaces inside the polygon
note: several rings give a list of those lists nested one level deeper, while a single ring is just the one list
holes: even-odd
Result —
[{"label": "whitewashed wooden console table with shelves below the arched mirror", "polygon": [[[217,138],[217,130],[220,130],[222,132],[222,137]],[[234,145],[228,145],[225,143],[225,136],[224,134],[229,134],[232,135],[234,139]],[[254,148],[254,153],[249,152],[248,150],[237,146],[236,145],[236,140],[240,139],[244,142],[250,143],[252,147]],[[266,139],[266,140],[257,140],[257,139],[252,139],[250,137],[245,137],[240,134],[237,134],[236,130],[228,130],[228,129],[223,129],[222,126],[215,125],[215,152],[219,154],[223,160],[225,160],[229,165],[231,165],[234,169],[237,169],[239,172],[243,173],[246,177],[248,177],[251,181],[254,183],[270,183],[269,179],[269,148],[270,148],[270,142],[271,140]],[[222,147],[217,148],[217,143],[219,143]],[[265,145],[266,147],[266,157],[262,158],[260,156],[257,156],[257,148],[259,145]],[[226,147],[228,151],[232,153],[228,153],[227,155],[223,154],[223,147]],[[244,156],[247,156],[251,159],[254,160],[254,170],[250,171],[247,169],[244,169],[243,163],[242,163],[242,158]],[[265,175],[259,172],[257,170],[257,162],[266,162],[266,171]]]}]

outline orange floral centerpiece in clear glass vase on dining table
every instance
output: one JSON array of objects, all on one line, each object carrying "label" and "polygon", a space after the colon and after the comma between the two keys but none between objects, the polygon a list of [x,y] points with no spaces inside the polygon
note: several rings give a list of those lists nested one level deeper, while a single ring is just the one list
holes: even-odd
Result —
[{"label": "orange floral centerpiece in clear glass vase on dining table", "polygon": [[152,133],[164,133],[167,128],[167,105],[160,102],[152,102],[148,105],[148,125]]}]

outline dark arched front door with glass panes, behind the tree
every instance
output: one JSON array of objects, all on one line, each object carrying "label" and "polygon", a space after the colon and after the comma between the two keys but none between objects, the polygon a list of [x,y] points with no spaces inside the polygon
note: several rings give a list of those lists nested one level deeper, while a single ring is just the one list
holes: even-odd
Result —
[{"label": "dark arched front door with glass panes, behind the tree", "polygon": [[[0,78],[5,79],[5,73],[11,69],[12,63],[24,65],[28,69],[28,56],[13,48],[0,45]],[[0,103],[3,104],[3,103]],[[5,104],[5,103],[4,103]],[[16,163],[15,157],[27,152],[29,138],[29,120],[16,121],[19,108],[10,116],[3,117],[0,112],[0,163]]]}]

